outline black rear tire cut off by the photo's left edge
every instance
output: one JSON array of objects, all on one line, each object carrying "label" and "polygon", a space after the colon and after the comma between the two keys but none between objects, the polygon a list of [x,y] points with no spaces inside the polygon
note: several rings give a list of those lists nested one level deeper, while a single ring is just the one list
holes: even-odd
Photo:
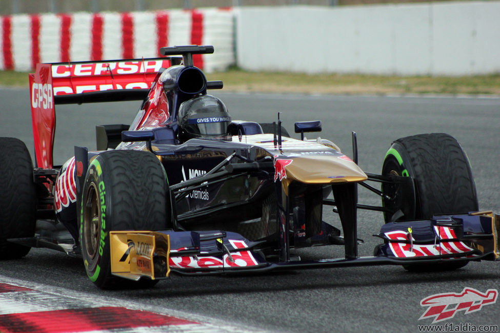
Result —
[{"label": "black rear tire cut off by the photo's left edge", "polygon": [[8,242],[9,238],[33,237],[36,223],[36,187],[33,164],[23,141],[0,138],[0,259],[24,257],[29,246]]}]

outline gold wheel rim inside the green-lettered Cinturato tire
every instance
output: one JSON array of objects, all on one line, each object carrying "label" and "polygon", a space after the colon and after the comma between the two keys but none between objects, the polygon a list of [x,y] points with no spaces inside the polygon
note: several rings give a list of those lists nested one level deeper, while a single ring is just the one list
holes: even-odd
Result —
[{"label": "gold wheel rim inside the green-lettered Cinturato tire", "polygon": [[99,246],[101,234],[101,204],[99,203],[97,188],[91,183],[87,192],[87,201],[84,207],[83,232],[87,255],[93,259]]}]

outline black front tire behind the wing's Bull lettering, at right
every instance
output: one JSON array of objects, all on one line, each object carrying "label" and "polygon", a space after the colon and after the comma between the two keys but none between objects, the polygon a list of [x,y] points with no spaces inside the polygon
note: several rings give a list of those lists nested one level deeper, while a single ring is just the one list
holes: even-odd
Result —
[{"label": "black front tire behind the wing's Bull lettering, at right", "polygon": [[[383,183],[382,192],[392,198],[383,199],[383,205],[400,211],[398,218],[386,214],[386,223],[393,219],[430,219],[435,214],[467,214],[478,210],[469,159],[456,139],[448,134],[421,134],[394,141],[384,159],[382,175],[412,177],[415,186],[411,201],[401,200],[408,198],[402,193],[402,186]],[[429,271],[455,269],[466,264],[467,261],[455,261],[404,267]]]}]

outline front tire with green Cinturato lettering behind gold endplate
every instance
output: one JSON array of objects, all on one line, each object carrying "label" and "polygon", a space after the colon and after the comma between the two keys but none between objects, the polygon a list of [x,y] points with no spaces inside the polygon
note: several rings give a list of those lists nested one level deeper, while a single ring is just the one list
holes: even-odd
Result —
[{"label": "front tire with green Cinturato lettering behind gold endplate", "polygon": [[167,178],[156,156],[143,151],[109,151],[89,165],[82,192],[80,243],[90,280],[99,288],[150,287],[111,274],[109,232],[165,230]]}]

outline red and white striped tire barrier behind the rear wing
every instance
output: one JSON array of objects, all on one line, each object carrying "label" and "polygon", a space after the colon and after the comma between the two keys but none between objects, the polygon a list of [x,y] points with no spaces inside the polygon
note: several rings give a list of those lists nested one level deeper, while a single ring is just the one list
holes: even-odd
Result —
[{"label": "red and white striped tire barrier behind the rear wing", "polygon": [[159,56],[159,48],[213,45],[197,55],[207,72],[234,64],[232,9],[0,16],[0,69],[31,71],[37,63]]}]

